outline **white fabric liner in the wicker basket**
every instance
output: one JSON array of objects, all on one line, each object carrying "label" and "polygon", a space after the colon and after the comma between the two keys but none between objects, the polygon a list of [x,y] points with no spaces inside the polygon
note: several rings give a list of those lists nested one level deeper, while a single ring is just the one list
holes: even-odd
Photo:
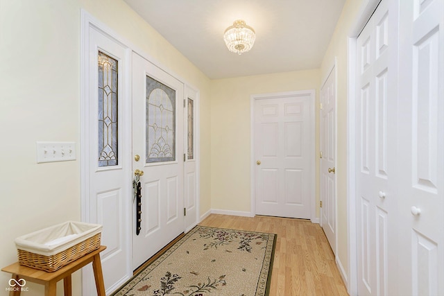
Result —
[{"label": "white fabric liner in the wicker basket", "polygon": [[19,250],[52,256],[77,245],[102,231],[102,225],[67,221],[58,225],[19,236],[15,246]]}]

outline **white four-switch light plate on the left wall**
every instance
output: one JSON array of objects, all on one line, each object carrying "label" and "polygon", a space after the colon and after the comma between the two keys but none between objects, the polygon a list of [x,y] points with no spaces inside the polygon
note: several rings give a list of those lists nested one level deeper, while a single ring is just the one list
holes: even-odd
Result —
[{"label": "white four-switch light plate on the left wall", "polygon": [[37,142],[37,164],[76,159],[76,142]]}]

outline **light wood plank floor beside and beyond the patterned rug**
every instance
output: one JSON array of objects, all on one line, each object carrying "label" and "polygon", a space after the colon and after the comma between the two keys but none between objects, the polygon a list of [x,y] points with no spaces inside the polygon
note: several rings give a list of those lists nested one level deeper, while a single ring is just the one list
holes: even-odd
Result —
[{"label": "light wood plank floor beside and beyond the patterned rug", "polygon": [[318,224],[292,218],[212,214],[199,225],[278,234],[270,296],[348,295]]}]

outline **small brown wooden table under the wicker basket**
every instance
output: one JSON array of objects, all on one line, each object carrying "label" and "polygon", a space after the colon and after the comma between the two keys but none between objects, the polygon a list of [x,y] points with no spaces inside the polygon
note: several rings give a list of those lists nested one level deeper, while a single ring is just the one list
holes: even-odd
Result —
[{"label": "small brown wooden table under the wicker basket", "polygon": [[[44,285],[45,296],[56,296],[56,284],[58,281],[60,281],[60,279],[63,279],[65,296],[71,296],[71,274],[92,262],[94,279],[96,280],[97,295],[105,296],[105,285],[103,284],[102,265],[100,261],[100,252],[105,249],[106,247],[101,245],[99,249],[86,254],[85,256],[69,263],[55,272],[46,272],[44,270],[28,268],[27,266],[19,265],[18,262],[8,265],[6,268],[2,268],[1,270],[12,273],[12,279],[15,279],[15,281],[18,283],[22,283],[23,281],[21,281],[21,279],[24,279],[25,281],[32,281],[33,283]],[[16,289],[10,290],[10,296],[20,295],[22,289],[19,287],[19,285],[16,287]]]}]

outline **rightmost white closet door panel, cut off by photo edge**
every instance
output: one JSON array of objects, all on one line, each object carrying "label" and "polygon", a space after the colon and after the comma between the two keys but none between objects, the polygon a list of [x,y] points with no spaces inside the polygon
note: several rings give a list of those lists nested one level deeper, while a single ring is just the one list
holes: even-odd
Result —
[{"label": "rightmost white closet door panel, cut off by photo edge", "polygon": [[399,28],[399,295],[444,295],[444,1],[402,1]]}]

